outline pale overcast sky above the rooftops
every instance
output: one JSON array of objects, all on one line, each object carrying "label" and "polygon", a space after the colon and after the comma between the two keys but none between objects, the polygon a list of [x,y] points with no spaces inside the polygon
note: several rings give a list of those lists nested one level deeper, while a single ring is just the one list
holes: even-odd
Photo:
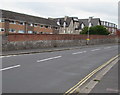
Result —
[{"label": "pale overcast sky above the rooftops", "polygon": [[119,0],[0,0],[0,9],[40,17],[101,18],[118,24]]}]

